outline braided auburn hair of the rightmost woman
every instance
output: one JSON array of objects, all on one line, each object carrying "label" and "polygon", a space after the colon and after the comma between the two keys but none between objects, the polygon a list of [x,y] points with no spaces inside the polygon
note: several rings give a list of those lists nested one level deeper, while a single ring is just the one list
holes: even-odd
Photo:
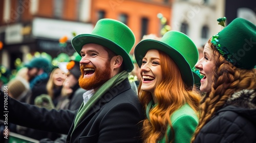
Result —
[{"label": "braided auburn hair of the rightmost woman", "polygon": [[201,101],[201,110],[199,124],[191,142],[194,142],[196,136],[210,118],[226,103],[227,99],[236,91],[242,89],[255,89],[256,69],[240,69],[228,62],[216,47],[208,40],[208,44],[213,50],[215,57],[215,67],[212,69],[211,91],[206,93]]}]

